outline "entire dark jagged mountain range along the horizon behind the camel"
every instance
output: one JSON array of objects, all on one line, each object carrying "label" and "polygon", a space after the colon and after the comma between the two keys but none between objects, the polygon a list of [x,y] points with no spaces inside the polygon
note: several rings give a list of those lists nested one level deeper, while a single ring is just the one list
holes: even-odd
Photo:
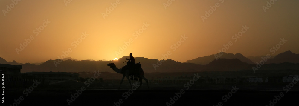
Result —
[{"label": "entire dark jagged mountain range along the horizon behind the camel", "polygon": [[[267,59],[266,64],[260,67],[260,70],[285,70],[294,69],[299,70],[299,54],[286,51],[273,56],[274,58]],[[260,56],[263,57],[263,56]],[[94,60],[76,60],[71,57],[62,59],[62,61],[55,66],[56,60],[48,60],[40,64],[19,64],[16,61],[7,62],[0,57],[1,64],[22,65],[21,72],[43,71],[43,72],[82,72],[82,71],[102,71],[102,72],[114,72],[108,63],[115,63],[116,67],[121,68],[126,63],[126,58],[129,56],[123,56],[118,60],[110,61],[94,61]],[[258,59],[257,59],[258,60]],[[260,58],[260,61],[262,58]],[[171,59],[160,60],[148,59],[144,57],[135,57],[136,63],[140,62],[142,69],[146,73],[150,72],[197,72],[197,71],[238,71],[238,70],[252,70],[252,67],[257,67],[256,63],[260,61],[252,62],[240,53],[223,53],[219,59],[215,59],[214,55],[199,57],[196,59],[188,60],[187,62],[177,62]]]}]

